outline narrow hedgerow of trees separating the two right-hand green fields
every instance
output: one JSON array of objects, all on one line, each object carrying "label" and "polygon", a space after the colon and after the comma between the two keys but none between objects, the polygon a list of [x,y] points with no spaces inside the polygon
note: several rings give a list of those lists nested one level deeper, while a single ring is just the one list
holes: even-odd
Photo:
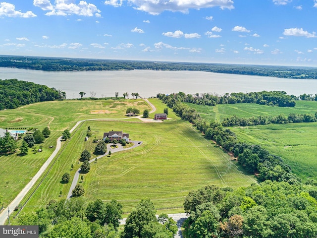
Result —
[{"label": "narrow hedgerow of trees separating the two right-hand green fields", "polygon": [[223,126],[247,126],[247,125],[267,125],[267,124],[285,124],[285,123],[298,123],[298,122],[316,122],[317,112],[315,115],[311,114],[295,114],[291,113],[286,117],[285,115],[278,115],[276,117],[251,117],[251,118],[238,118],[236,115],[230,116],[222,120]]}]

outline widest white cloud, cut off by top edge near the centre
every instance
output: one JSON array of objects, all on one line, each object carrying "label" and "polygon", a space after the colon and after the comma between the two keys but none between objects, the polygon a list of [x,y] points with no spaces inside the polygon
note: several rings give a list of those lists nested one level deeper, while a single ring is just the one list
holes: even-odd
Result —
[{"label": "widest white cloud, cut off by top edge near the centre", "polygon": [[[123,0],[106,0],[106,4],[121,6]],[[135,9],[158,15],[163,11],[180,11],[187,13],[189,9],[201,9],[219,6],[221,9],[233,9],[233,0],[128,0]]]}]

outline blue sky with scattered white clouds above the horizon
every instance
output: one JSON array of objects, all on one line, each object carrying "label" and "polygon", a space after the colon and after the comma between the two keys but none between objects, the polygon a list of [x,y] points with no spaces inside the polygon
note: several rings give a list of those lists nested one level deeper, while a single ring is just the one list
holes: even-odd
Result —
[{"label": "blue sky with scattered white clouds above the horizon", "polygon": [[317,65],[317,0],[0,0],[0,55]]}]

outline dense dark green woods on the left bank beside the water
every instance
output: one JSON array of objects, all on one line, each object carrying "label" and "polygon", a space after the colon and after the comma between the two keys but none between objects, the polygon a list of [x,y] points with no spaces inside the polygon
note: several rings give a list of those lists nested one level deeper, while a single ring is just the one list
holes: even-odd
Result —
[{"label": "dense dark green woods on the left bank beside the water", "polygon": [[65,92],[17,79],[0,79],[0,110],[66,97]]}]

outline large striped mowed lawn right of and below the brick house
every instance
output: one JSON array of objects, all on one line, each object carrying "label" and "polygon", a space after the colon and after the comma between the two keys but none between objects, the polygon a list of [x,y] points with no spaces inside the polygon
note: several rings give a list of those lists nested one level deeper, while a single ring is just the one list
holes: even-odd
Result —
[{"label": "large striped mowed lawn right of and below the brick house", "polygon": [[142,198],[150,198],[156,208],[182,207],[185,196],[193,189],[256,182],[187,121],[96,121],[92,125],[105,131],[123,130],[132,140],[144,142],[131,151],[98,160],[82,183],[88,199],[116,199],[125,212],[131,211]]}]

